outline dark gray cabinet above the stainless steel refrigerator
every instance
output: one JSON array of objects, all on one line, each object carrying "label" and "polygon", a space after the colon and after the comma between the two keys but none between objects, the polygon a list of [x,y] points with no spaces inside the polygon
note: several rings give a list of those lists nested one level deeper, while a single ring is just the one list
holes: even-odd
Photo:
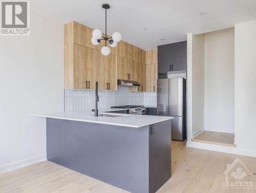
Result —
[{"label": "dark gray cabinet above the stainless steel refrigerator", "polygon": [[187,41],[158,46],[158,73],[186,70]]}]

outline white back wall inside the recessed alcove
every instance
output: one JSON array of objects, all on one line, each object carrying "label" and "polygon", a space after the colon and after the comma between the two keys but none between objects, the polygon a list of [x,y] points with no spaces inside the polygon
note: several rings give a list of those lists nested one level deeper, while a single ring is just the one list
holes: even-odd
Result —
[{"label": "white back wall inside the recessed alcove", "polygon": [[205,131],[234,133],[234,28],[204,34]]}]

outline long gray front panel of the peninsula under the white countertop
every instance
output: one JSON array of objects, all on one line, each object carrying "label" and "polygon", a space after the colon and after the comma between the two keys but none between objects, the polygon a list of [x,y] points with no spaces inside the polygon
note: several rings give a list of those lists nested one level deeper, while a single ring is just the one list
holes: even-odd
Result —
[{"label": "long gray front panel of the peninsula under the white countertop", "polygon": [[47,118],[46,136],[49,161],[130,192],[150,191],[148,125],[135,129]]}]

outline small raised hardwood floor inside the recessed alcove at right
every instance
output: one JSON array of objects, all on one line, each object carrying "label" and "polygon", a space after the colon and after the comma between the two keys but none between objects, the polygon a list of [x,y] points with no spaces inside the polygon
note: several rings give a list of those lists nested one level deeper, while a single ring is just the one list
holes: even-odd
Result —
[{"label": "small raised hardwood floor inside the recessed alcove at right", "polygon": [[204,131],[194,139],[191,139],[191,141],[236,147],[234,134],[231,133]]}]

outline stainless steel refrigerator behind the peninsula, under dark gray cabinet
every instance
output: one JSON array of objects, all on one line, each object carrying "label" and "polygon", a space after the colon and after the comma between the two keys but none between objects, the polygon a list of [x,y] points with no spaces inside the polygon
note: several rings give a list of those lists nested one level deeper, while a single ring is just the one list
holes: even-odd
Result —
[{"label": "stainless steel refrigerator behind the peninsula, under dark gray cabinet", "polygon": [[172,139],[186,139],[186,79],[157,80],[157,115],[172,116]]}]

